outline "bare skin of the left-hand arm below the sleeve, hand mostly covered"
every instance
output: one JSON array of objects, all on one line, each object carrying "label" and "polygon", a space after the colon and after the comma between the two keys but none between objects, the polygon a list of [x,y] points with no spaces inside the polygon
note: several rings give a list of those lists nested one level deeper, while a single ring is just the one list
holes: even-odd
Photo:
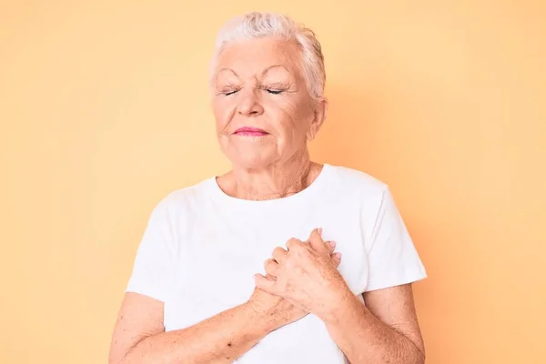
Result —
[{"label": "bare skin of the left-hand arm below the sleeve, hand mostly covered", "polygon": [[[273,299],[288,308],[286,301]],[[268,332],[285,325],[287,317],[294,316],[290,315],[293,308],[284,309],[281,320],[260,312],[249,300],[187,329],[165,332],[163,307],[157,299],[126,293],[112,337],[109,364],[231,363]]]}]

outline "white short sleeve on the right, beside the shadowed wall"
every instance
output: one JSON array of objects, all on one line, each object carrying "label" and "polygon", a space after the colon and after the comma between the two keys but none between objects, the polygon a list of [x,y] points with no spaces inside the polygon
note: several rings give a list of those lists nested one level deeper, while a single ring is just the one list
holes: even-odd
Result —
[{"label": "white short sleeve on the right, beside the shadowed wall", "polygon": [[399,210],[385,187],[371,232],[369,280],[366,291],[389,288],[427,278],[419,254]]}]

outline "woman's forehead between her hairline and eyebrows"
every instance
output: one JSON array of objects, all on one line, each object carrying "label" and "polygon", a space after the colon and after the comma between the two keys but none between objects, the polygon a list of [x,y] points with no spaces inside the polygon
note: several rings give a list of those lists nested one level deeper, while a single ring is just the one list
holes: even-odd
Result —
[{"label": "woman's forehead between her hairline and eyebrows", "polygon": [[255,76],[270,66],[284,66],[298,77],[298,52],[297,45],[275,37],[233,42],[218,56],[216,73],[229,68],[239,76]]}]

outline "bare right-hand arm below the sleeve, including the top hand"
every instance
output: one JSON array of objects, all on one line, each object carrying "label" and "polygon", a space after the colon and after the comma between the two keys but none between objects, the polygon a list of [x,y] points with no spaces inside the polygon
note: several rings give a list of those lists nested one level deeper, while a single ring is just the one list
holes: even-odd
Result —
[{"label": "bare right-hand arm below the sleeve, including the top hand", "polygon": [[297,239],[287,250],[276,248],[268,275],[257,287],[287,299],[324,321],[331,338],[352,364],[421,364],[424,348],[411,286],[399,285],[365,293],[368,308],[354,296],[327,259],[318,230],[310,244]]}]

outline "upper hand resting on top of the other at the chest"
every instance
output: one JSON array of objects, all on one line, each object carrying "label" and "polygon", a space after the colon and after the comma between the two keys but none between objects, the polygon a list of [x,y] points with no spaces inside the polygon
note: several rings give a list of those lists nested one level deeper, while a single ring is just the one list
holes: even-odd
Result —
[{"label": "upper hand resting on top of the other at the chest", "polygon": [[350,290],[337,269],[339,263],[335,263],[327,247],[329,244],[320,238],[319,229],[311,232],[308,242],[288,240],[288,251],[273,250],[273,259],[266,261],[270,277],[256,275],[256,286],[285,298],[302,311],[328,318]]}]

